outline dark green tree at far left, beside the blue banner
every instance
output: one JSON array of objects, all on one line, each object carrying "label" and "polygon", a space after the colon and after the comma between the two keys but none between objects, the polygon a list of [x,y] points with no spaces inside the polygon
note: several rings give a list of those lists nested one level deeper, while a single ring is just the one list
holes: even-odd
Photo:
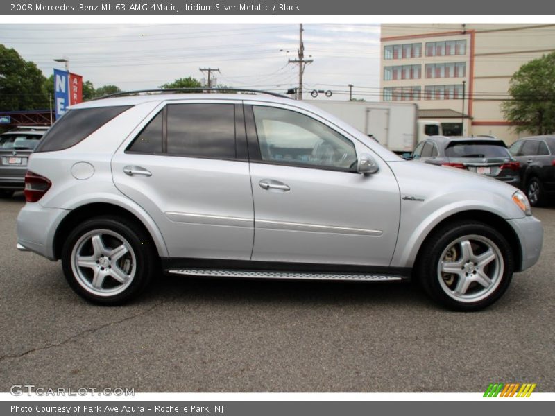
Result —
[{"label": "dark green tree at far left, beside the blue banner", "polygon": [[49,107],[44,75],[34,62],[0,44],[0,110],[44,110]]}]

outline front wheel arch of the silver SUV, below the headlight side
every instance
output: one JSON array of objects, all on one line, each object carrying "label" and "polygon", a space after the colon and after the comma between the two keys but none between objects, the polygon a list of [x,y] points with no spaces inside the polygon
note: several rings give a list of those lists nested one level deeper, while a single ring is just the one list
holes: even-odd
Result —
[{"label": "front wheel arch of the silver SUV, below the headlight side", "polygon": [[[513,258],[515,259],[515,270],[520,270],[522,266],[522,246],[513,227],[511,227],[511,225],[507,223],[504,218],[498,216],[497,214],[479,209],[456,212],[455,214],[451,214],[450,216],[443,218],[443,220],[434,225],[434,227],[432,227],[432,229],[430,229],[426,236],[422,239],[422,243],[420,244],[420,247],[418,248],[418,252],[416,254],[415,263],[418,261],[418,259],[422,259],[422,255],[424,255],[422,251],[424,250],[426,243],[429,241],[429,239],[432,238],[436,230],[441,229],[445,227],[445,225],[448,225],[450,223],[456,223],[464,220],[484,223],[495,228],[497,232],[500,232],[502,236],[507,239],[511,247]],[[413,270],[416,270],[416,268],[413,268]]]}]

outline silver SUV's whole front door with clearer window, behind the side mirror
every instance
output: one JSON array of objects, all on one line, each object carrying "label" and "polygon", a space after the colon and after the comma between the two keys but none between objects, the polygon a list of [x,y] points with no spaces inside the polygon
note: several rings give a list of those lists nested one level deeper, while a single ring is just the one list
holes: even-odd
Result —
[{"label": "silver SUV's whole front door with clearer window, behind the side mirror", "polygon": [[388,165],[355,173],[372,153],[361,142],[296,107],[249,104],[253,261],[388,266],[400,219]]}]

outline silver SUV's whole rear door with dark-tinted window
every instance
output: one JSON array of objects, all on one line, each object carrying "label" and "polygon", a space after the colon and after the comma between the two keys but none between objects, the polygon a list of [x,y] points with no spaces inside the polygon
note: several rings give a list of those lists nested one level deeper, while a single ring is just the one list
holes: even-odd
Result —
[{"label": "silver SUV's whole rear door with dark-tinted window", "polygon": [[240,101],[162,105],[112,159],[117,188],[155,220],[171,257],[248,260],[253,194]]}]

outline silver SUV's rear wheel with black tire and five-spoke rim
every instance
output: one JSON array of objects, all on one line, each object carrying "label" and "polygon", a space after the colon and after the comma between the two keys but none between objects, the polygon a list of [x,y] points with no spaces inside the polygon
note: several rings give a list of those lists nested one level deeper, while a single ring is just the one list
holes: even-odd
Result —
[{"label": "silver SUV's rear wheel with black tire and five-spoke rim", "polygon": [[140,225],[117,216],[99,216],[77,225],[62,248],[69,286],[96,304],[114,306],[137,297],[158,265],[150,236]]}]

